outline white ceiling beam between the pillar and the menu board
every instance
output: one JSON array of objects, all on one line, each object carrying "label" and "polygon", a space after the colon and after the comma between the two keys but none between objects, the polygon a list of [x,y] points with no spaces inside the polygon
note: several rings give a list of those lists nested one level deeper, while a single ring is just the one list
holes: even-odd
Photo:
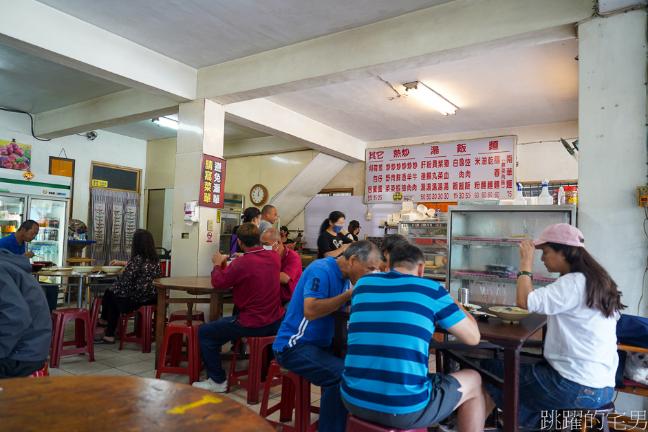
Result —
[{"label": "white ceiling beam between the pillar and the menu board", "polygon": [[364,141],[266,99],[225,105],[225,119],[349,162],[365,160]]}]

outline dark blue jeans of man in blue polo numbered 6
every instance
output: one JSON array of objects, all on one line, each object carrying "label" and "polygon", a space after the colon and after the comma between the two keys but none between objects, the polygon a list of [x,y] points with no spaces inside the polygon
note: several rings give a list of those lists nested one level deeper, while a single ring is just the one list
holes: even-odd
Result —
[{"label": "dark blue jeans of man in blue polo numbered 6", "polygon": [[340,396],[344,360],[334,356],[331,349],[310,343],[275,351],[274,357],[279,365],[322,387],[318,430],[344,432],[349,413]]}]

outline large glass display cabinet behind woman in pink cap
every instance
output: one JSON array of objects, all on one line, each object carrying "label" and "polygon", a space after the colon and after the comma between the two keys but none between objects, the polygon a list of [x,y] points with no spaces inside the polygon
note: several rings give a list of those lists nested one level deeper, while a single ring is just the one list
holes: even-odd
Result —
[{"label": "large glass display cabinet behind woman in pink cap", "polygon": [[[457,298],[468,288],[468,302],[515,305],[518,244],[537,239],[552,224],[576,224],[576,206],[450,206],[446,289]],[[534,287],[559,276],[547,271],[537,252],[533,261]]]}]

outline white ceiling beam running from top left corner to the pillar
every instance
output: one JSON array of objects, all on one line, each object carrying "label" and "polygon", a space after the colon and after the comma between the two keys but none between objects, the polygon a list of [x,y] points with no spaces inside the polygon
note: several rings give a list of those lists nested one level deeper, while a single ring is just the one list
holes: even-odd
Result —
[{"label": "white ceiling beam running from top left corner to the pillar", "polygon": [[197,71],[34,0],[0,0],[0,43],[149,94],[195,99]]}]

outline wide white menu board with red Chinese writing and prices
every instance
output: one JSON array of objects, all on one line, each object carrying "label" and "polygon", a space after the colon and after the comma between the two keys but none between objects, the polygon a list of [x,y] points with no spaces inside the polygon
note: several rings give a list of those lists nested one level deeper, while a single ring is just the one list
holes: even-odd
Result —
[{"label": "wide white menu board with red Chinese writing and prices", "polygon": [[509,199],[515,137],[367,149],[365,203]]}]

